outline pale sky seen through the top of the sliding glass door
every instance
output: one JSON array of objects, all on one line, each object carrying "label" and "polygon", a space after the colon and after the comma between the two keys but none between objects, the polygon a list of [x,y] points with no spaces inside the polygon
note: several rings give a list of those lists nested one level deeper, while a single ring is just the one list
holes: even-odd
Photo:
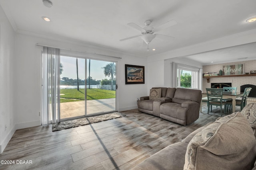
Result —
[{"label": "pale sky seen through the top of the sliding glass door", "polygon": [[[85,76],[85,61],[87,60],[87,76]],[[68,77],[72,79],[76,79],[76,58],[75,57],[66,57],[60,56],[60,63],[63,65],[63,71],[60,77]],[[92,60],[90,62],[90,76],[92,79],[102,80],[102,79],[109,79],[103,73],[104,69],[102,67],[106,66],[106,64],[111,63],[108,61],[99,61],[99,60]],[[78,58],[78,77],[82,80],[85,77],[89,76],[89,59],[80,59]]]}]

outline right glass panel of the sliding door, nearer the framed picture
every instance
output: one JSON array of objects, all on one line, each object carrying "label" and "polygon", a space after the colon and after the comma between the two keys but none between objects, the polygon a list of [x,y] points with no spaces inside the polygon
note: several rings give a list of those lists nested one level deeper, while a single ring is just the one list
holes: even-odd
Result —
[{"label": "right glass panel of the sliding door, nearer the framed picture", "polygon": [[86,115],[116,110],[116,63],[86,59]]}]

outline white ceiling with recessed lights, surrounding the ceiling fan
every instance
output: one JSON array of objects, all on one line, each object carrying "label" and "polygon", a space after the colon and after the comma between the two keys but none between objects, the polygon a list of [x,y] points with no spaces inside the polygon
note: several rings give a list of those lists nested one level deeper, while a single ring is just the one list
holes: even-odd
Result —
[{"label": "white ceiling with recessed lights, surrounding the ceiling fan", "polygon": [[[51,2],[52,8],[44,6],[42,0],[0,0],[0,5],[17,32],[70,39],[139,56],[155,55],[256,28],[256,22],[245,22],[248,18],[256,16],[256,0],[51,0]],[[47,16],[52,21],[46,22],[42,20],[42,16]],[[158,32],[175,38],[153,39],[149,47],[155,48],[156,51],[147,51],[142,47],[143,40],[140,37],[119,41],[140,34],[140,31],[127,23],[133,22],[144,27],[146,20],[151,20],[153,27],[175,20],[176,25]],[[241,51],[242,49],[240,48]],[[218,55],[221,52],[218,51]],[[228,50],[224,53],[231,52],[232,50]],[[232,54],[232,57],[234,56],[242,58],[237,53]],[[190,58],[202,63],[209,63],[211,59],[210,53],[194,55]],[[231,59],[230,55],[224,58],[229,61]]]}]

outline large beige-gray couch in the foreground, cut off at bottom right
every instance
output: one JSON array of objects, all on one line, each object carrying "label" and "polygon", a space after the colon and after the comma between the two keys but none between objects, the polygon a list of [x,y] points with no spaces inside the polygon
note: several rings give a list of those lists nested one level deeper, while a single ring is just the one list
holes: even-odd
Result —
[{"label": "large beige-gray couch in the foreground, cut off at bottom right", "polygon": [[132,170],[256,170],[256,104],[200,127]]}]

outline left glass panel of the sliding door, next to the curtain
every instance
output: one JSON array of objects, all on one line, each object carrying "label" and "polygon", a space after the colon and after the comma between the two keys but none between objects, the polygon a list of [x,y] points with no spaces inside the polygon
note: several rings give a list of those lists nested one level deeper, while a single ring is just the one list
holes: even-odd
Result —
[{"label": "left glass panel of the sliding door, next to the curtain", "polygon": [[85,114],[85,59],[60,56],[60,118]]}]

